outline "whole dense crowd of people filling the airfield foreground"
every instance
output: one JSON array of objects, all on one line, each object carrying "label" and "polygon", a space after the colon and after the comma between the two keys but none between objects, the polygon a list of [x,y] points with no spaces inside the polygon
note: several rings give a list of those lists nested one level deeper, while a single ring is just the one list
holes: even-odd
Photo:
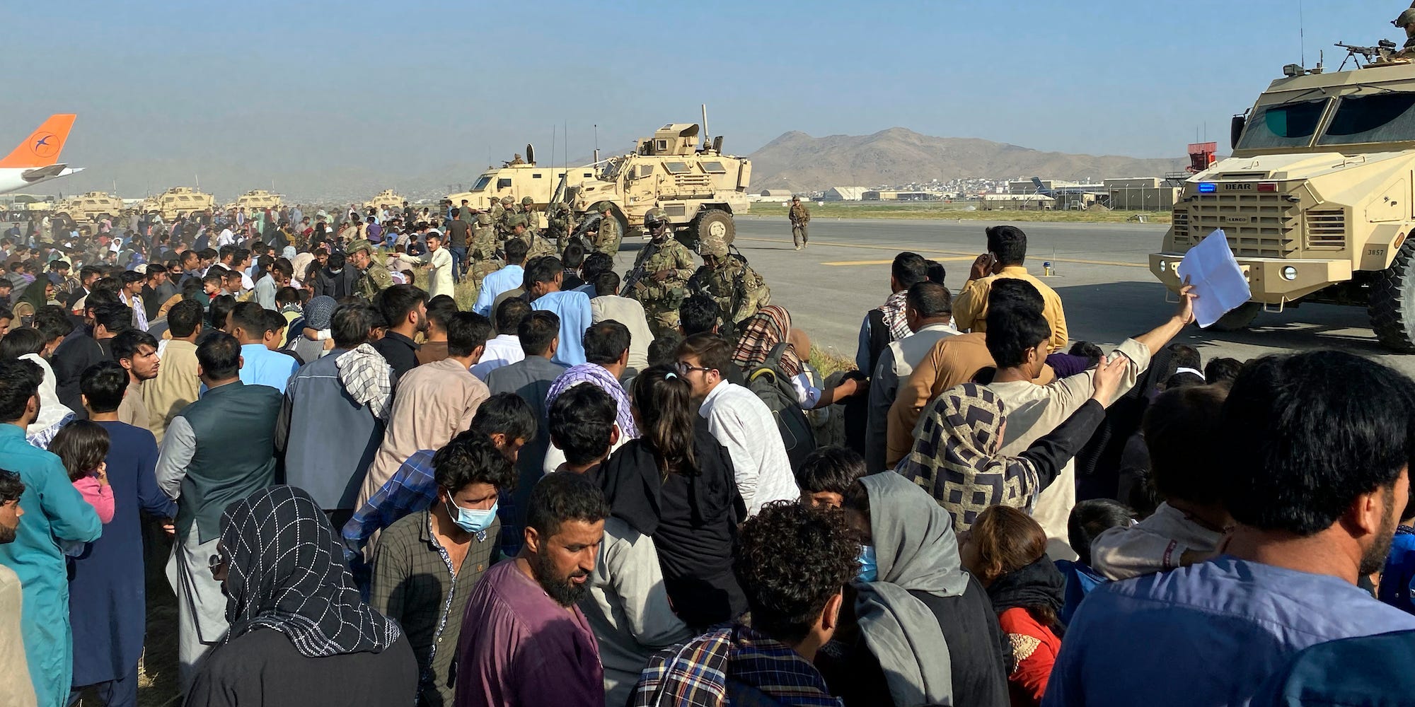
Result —
[{"label": "whole dense crowd of people filling the airfield foreground", "polygon": [[726,243],[621,279],[608,211],[498,205],[4,235],[0,704],[133,706],[153,641],[192,706],[1407,693],[1404,375],[1206,363],[1193,288],[1074,341],[1015,226],[822,375]]}]

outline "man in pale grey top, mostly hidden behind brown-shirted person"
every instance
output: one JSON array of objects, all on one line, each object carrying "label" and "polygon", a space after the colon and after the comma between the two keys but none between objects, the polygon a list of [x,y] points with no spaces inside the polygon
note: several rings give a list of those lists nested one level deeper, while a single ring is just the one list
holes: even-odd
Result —
[{"label": "man in pale grey top, mostly hidden behind brown-shirted person", "polygon": [[958,334],[952,325],[952,297],[947,287],[931,281],[916,283],[907,290],[904,303],[904,318],[914,334],[884,346],[870,378],[870,407],[865,426],[865,468],[870,474],[886,468],[889,409],[899,395],[900,382],[908,380],[934,344]]}]

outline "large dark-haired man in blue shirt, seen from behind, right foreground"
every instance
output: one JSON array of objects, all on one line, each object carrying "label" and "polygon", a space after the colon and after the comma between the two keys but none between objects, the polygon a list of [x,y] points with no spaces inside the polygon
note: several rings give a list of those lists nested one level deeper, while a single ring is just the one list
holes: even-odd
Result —
[{"label": "large dark-haired man in blue shirt, seen from behind, right foreground", "polygon": [[1220,433],[1194,440],[1234,522],[1220,556],[1091,591],[1043,704],[1248,704],[1306,646],[1415,628],[1357,587],[1405,506],[1412,423],[1415,383],[1380,363],[1337,351],[1248,363]]}]

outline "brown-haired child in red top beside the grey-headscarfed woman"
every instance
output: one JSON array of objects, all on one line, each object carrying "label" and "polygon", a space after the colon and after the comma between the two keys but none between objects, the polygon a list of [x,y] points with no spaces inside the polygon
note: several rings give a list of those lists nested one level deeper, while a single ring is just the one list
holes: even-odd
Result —
[{"label": "brown-haired child in red top beside the grey-headscarfed woman", "polygon": [[1012,648],[1012,704],[1041,704],[1065,631],[1060,619],[1065,578],[1047,557],[1047,533],[1024,510],[989,506],[959,540],[964,568],[988,590]]}]

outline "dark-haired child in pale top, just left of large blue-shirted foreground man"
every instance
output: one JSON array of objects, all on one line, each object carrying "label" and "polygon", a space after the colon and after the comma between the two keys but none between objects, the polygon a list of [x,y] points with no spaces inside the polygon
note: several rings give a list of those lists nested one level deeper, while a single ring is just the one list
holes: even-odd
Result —
[{"label": "dark-haired child in pale top, just left of large blue-shirted foreground man", "polygon": [[1111,580],[1173,570],[1208,559],[1231,520],[1208,444],[1217,438],[1227,386],[1166,390],[1145,410],[1149,486],[1163,499],[1129,527],[1091,543],[1092,567]]}]

